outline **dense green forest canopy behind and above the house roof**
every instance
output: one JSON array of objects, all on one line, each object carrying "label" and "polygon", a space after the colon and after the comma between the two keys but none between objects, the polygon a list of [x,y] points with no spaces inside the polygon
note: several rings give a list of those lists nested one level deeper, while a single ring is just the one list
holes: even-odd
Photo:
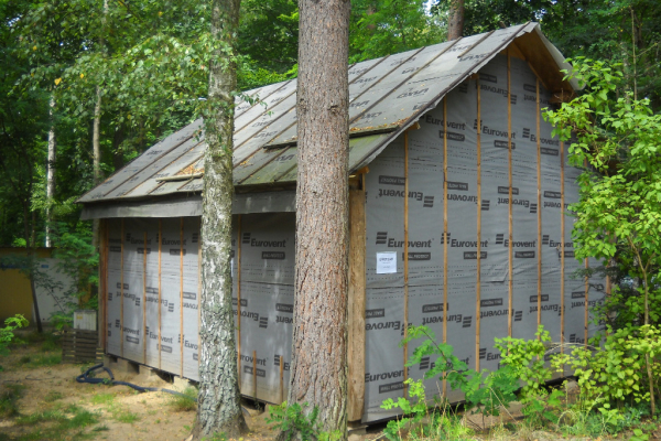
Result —
[{"label": "dense green forest canopy behind and above the house roof", "polygon": [[[445,40],[449,0],[355,0],[349,62]],[[93,120],[101,94],[104,175],[197,118],[208,95],[210,9],[191,0],[0,0],[0,244],[39,245],[45,209],[76,227],[94,185]],[[661,107],[661,4],[653,0],[466,0],[464,35],[539,21],[566,56],[621,63],[619,94]],[[297,73],[293,0],[245,0],[239,90]],[[50,112],[50,101],[55,107]],[[56,194],[46,147],[57,136]],[[75,230],[75,228],[74,228]]]}]

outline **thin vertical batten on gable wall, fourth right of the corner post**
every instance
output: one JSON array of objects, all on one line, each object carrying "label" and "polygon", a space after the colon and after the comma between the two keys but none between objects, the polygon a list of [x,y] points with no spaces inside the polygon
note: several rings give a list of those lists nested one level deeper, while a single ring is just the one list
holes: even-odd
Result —
[{"label": "thin vertical batten on gable wall, fourth right of the corner post", "polygon": [[[508,261],[508,284],[507,284],[507,301],[508,301],[508,314],[507,314],[507,335],[512,336],[512,315],[513,315],[513,291],[514,291],[514,269],[512,261],[512,240],[513,240],[513,205],[512,205],[512,99],[511,99],[511,54],[508,47],[507,52],[507,175],[508,175],[508,237],[509,244],[507,247],[507,261]],[[538,207],[538,209],[540,209]]]}]

